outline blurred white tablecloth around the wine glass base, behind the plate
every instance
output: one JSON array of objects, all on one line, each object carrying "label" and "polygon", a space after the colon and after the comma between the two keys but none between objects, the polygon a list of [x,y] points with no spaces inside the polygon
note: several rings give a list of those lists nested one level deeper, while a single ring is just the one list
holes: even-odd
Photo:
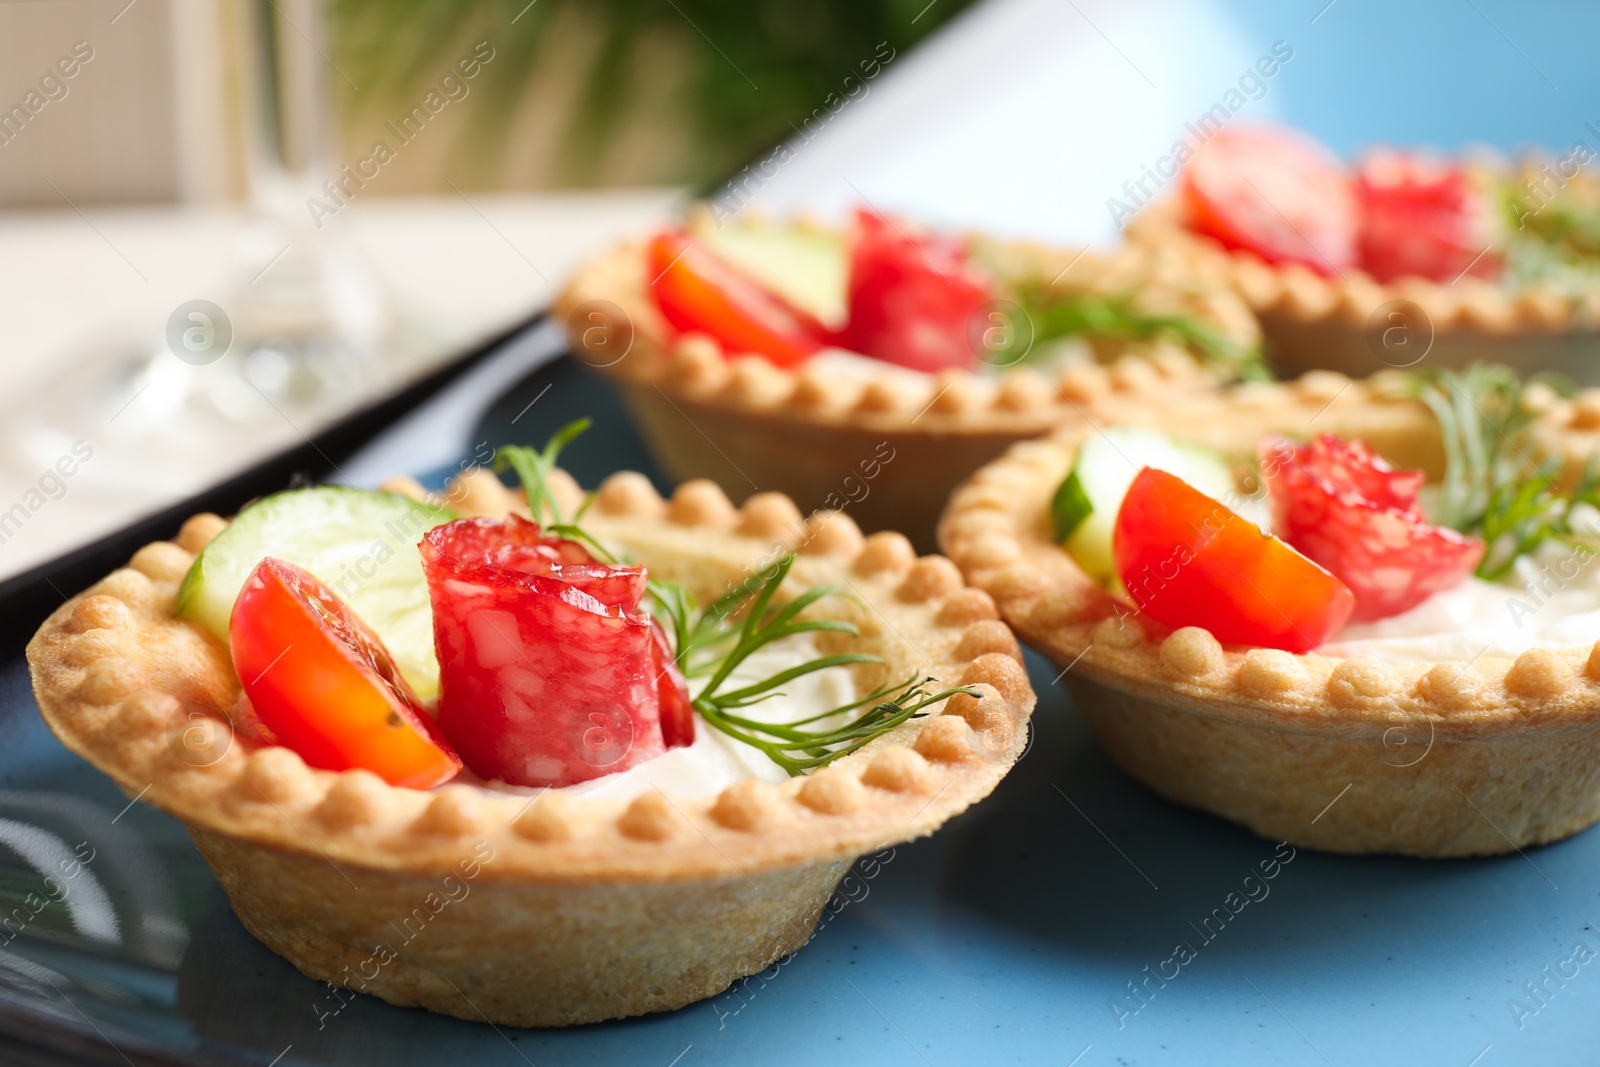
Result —
[{"label": "blurred white tablecloth around the wine glass base, behind the plate", "polygon": [[[669,190],[363,200],[341,222],[435,360],[546,304],[586,254],[648,229]],[[237,259],[237,213],[85,208],[0,216],[0,410],[13,427],[53,384],[126,349],[162,344],[168,315],[211,299]],[[355,398],[352,398],[355,400]],[[365,397],[363,397],[365,400]],[[0,579],[102,536],[302,440],[270,426],[174,462],[141,446],[131,419],[107,426],[86,462],[58,466],[77,432],[13,440],[0,458]],[[181,435],[182,427],[171,427]],[[181,440],[181,438],[179,438]],[[83,448],[78,448],[82,454]],[[203,453],[203,454],[197,454]],[[61,472],[72,474],[61,477]],[[56,472],[54,475],[51,472]],[[22,512],[13,510],[22,504]],[[5,515],[11,514],[8,523]],[[26,518],[22,518],[26,514]],[[22,518],[21,522],[18,522]],[[66,590],[70,592],[70,590]]]}]

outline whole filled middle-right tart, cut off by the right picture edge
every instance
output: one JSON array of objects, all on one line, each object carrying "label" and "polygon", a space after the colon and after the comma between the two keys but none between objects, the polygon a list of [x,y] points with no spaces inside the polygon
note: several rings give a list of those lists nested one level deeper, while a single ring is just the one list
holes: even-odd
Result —
[{"label": "whole filled middle-right tart, cut off by the right picture edge", "polygon": [[1600,819],[1597,430],[1502,368],[1246,384],[1016,445],[939,536],[1157,792],[1499,853]]}]

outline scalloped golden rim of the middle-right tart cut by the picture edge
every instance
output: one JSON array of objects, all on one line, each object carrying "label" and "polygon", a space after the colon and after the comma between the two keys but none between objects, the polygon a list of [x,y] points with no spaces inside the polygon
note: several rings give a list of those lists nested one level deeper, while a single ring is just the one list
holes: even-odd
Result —
[{"label": "scalloped golden rim of the middle-right tart cut by the picture edge", "polygon": [[[1341,379],[1315,371],[1296,384],[1254,389],[1293,394],[1312,382],[1322,395]],[[1363,382],[1347,387],[1357,398],[1368,390]],[[1114,600],[1022,515],[1037,517],[1038,486],[1048,482],[1053,491],[1086,432],[1062,427],[1014,445],[952,494],[939,523],[939,545],[963,577],[989,592],[1022,640],[1058,665],[1074,664],[1070,670],[1094,681],[1173,709],[1275,731],[1381,739],[1397,721],[1416,720],[1432,723],[1442,739],[1467,741],[1600,725],[1600,641],[1533,648],[1515,659],[1398,664],[1229,648],[1203,627],[1168,630],[1131,613],[1112,614]],[[992,486],[1005,486],[1018,502],[1000,506]],[[963,522],[978,512],[1000,518]],[[1054,576],[1034,563],[1042,558]]]}]

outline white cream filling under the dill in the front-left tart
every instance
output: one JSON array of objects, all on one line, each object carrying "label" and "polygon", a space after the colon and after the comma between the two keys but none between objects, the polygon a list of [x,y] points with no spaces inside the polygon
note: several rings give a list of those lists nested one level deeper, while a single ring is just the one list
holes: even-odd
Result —
[{"label": "white cream filling under the dill in the front-left tart", "polygon": [[[821,653],[810,633],[797,633],[773,641],[754,656],[739,664],[725,689],[738,689],[746,685],[770,678],[779,670],[797,667]],[[690,689],[698,693],[707,678],[694,678]],[[829,667],[810,675],[795,678],[782,686],[782,693],[760,704],[742,709],[744,718],[763,723],[792,721],[806,718],[830,707],[840,707],[856,699],[856,681],[846,667]],[[827,725],[827,720],[819,725]],[[813,726],[814,728],[814,726]],[[563,793],[584,797],[605,797],[608,800],[632,800],[643,792],[659,789],[672,797],[714,797],[728,785],[758,777],[768,782],[787,781],[789,773],[773,763],[760,749],[734,741],[720,729],[707,726],[701,717],[694,715],[694,742],[678,749],[669,749],[654,760],[646,760],[618,774],[606,774],[576,785],[565,785]],[[466,771],[458,782],[478,784],[491,792],[509,792],[536,795],[542,789],[507,785],[504,782],[482,782]]]}]

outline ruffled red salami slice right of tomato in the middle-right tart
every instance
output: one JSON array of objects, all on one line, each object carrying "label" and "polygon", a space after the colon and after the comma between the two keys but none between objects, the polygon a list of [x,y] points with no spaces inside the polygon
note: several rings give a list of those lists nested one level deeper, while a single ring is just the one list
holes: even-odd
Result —
[{"label": "ruffled red salami slice right of tomato in the middle-right tart", "polygon": [[1421,470],[1395,470],[1365,442],[1323,434],[1261,446],[1274,525],[1355,593],[1357,622],[1418,606],[1472,573],[1483,542],[1422,515]]}]

